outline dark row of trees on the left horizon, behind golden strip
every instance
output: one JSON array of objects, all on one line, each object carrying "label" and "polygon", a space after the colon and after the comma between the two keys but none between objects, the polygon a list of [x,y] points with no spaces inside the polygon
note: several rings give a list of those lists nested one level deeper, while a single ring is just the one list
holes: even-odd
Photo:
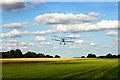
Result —
[{"label": "dark row of trees on the left horizon, behind golden strip", "polygon": [[60,58],[59,55],[51,56],[51,55],[45,55],[43,53],[35,53],[35,52],[26,52],[25,54],[22,54],[22,51],[20,49],[16,50],[10,50],[6,52],[0,52],[2,53],[2,58]]}]

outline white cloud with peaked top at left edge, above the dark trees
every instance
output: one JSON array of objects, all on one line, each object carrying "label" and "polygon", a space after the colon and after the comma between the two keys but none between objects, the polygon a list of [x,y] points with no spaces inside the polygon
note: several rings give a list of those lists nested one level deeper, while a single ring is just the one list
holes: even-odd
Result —
[{"label": "white cloud with peaked top at left edge, above the dark trees", "polygon": [[14,38],[14,37],[22,37],[23,34],[29,34],[28,31],[18,31],[17,29],[14,29],[13,31],[10,31],[8,33],[2,33],[0,37],[2,38]]}]

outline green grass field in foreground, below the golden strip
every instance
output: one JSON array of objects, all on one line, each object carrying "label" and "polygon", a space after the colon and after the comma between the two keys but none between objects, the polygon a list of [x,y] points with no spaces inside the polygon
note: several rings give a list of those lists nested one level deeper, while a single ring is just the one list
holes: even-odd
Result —
[{"label": "green grass field in foreground, below the golden strip", "polygon": [[3,78],[118,78],[118,59],[2,63]]}]

